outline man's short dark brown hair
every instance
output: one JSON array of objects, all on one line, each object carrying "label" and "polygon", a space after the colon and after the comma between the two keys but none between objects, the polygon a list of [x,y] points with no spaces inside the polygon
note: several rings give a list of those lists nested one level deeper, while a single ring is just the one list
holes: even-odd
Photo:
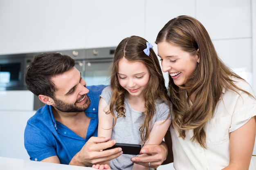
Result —
[{"label": "man's short dark brown hair", "polygon": [[74,65],[75,61],[68,55],[39,54],[25,71],[27,88],[37,96],[46,95],[54,98],[56,87],[52,83],[52,77],[70,70]]}]

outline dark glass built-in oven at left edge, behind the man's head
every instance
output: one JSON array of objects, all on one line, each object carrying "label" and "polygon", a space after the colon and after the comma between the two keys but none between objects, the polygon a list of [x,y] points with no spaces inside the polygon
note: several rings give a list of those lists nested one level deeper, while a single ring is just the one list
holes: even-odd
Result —
[{"label": "dark glass built-in oven at left edge, behind the man's head", "polygon": [[33,53],[0,55],[0,90],[27,90],[25,69]]}]

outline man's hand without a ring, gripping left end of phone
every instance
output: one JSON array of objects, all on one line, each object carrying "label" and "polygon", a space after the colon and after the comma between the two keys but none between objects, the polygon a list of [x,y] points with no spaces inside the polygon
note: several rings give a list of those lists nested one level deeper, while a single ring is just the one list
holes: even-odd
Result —
[{"label": "man's hand without a ring, gripping left end of phone", "polygon": [[117,158],[123,153],[122,148],[104,150],[114,146],[116,143],[115,140],[110,141],[110,137],[91,137],[83,148],[76,153],[69,164],[92,166],[93,164],[102,164],[103,162]]}]

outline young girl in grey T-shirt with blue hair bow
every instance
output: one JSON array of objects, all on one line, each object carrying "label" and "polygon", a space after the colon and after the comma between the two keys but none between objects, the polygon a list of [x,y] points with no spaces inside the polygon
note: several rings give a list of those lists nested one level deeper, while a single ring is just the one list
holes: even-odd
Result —
[{"label": "young girl in grey T-shirt with blue hair bow", "polygon": [[[152,47],[137,36],[117,46],[110,86],[100,96],[98,136],[141,146],[162,142],[171,124],[171,103]],[[134,156],[113,159],[111,169],[148,170],[150,163],[148,167],[133,164],[130,158]]]}]

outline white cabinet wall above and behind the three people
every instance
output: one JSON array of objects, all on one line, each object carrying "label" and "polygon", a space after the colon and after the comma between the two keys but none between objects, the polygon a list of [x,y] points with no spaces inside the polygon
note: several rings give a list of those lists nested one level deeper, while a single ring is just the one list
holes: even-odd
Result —
[{"label": "white cabinet wall above and behind the three people", "polygon": [[117,46],[130,35],[154,44],[168,20],[191,15],[204,24],[220,58],[256,91],[255,11],[256,0],[0,0],[0,55]]}]

